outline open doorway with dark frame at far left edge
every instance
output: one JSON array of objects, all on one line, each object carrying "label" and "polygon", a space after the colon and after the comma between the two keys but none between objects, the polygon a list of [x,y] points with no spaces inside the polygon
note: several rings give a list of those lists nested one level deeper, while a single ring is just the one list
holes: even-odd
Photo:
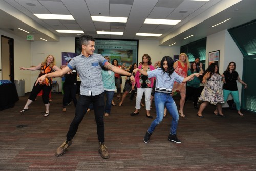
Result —
[{"label": "open doorway with dark frame at far left edge", "polygon": [[14,82],[14,39],[1,35],[2,79]]}]

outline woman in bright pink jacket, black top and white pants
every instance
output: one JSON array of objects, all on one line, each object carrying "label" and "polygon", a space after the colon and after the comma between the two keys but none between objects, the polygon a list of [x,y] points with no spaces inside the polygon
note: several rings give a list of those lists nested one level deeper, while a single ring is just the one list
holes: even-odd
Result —
[{"label": "woman in bright pink jacket, black top and white pants", "polygon": [[[155,68],[151,65],[150,55],[144,54],[142,56],[142,65],[138,67],[143,71],[152,71]],[[137,72],[135,75],[135,82],[133,83],[132,90],[134,90],[134,86],[136,84],[137,87],[137,96],[136,96],[136,110],[131,113],[131,116],[139,114],[140,102],[142,99],[143,93],[145,93],[145,103],[146,103],[146,117],[153,119],[150,115],[150,95],[152,91],[152,87],[154,84],[154,78],[148,78],[145,75],[142,75],[140,72]]]}]

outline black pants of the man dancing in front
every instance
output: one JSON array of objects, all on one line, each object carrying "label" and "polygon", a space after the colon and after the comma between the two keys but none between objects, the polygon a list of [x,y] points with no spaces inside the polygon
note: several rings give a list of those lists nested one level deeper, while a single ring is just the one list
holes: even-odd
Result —
[{"label": "black pants of the man dancing in front", "polygon": [[73,121],[70,124],[69,131],[67,133],[67,141],[70,141],[75,136],[78,126],[81,123],[84,115],[86,114],[89,105],[93,103],[94,116],[97,124],[97,134],[99,142],[104,142],[104,93],[96,96],[83,96],[80,95],[76,105],[76,112]]}]

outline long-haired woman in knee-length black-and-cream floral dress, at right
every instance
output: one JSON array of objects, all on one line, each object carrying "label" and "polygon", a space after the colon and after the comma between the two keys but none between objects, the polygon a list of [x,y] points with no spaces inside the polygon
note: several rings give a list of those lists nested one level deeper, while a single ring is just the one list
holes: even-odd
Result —
[{"label": "long-haired woman in knee-length black-and-cream floral dress, at right", "polygon": [[214,112],[214,114],[225,117],[222,113],[222,104],[224,103],[222,76],[218,72],[218,66],[216,63],[211,63],[208,69],[204,72],[202,83],[205,86],[198,101],[203,103],[200,105],[197,115],[203,118],[203,110],[209,103],[211,103],[215,104],[218,110],[218,113]]}]

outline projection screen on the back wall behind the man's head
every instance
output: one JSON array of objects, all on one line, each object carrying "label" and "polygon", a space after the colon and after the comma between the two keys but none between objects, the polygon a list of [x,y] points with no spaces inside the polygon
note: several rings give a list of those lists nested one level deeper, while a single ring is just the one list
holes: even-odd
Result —
[{"label": "projection screen on the back wall behind the man's head", "polygon": [[[94,53],[109,56],[110,63],[117,59],[118,64],[129,67],[138,61],[138,40],[95,39]],[[79,38],[76,38],[76,53],[81,53]]]}]

